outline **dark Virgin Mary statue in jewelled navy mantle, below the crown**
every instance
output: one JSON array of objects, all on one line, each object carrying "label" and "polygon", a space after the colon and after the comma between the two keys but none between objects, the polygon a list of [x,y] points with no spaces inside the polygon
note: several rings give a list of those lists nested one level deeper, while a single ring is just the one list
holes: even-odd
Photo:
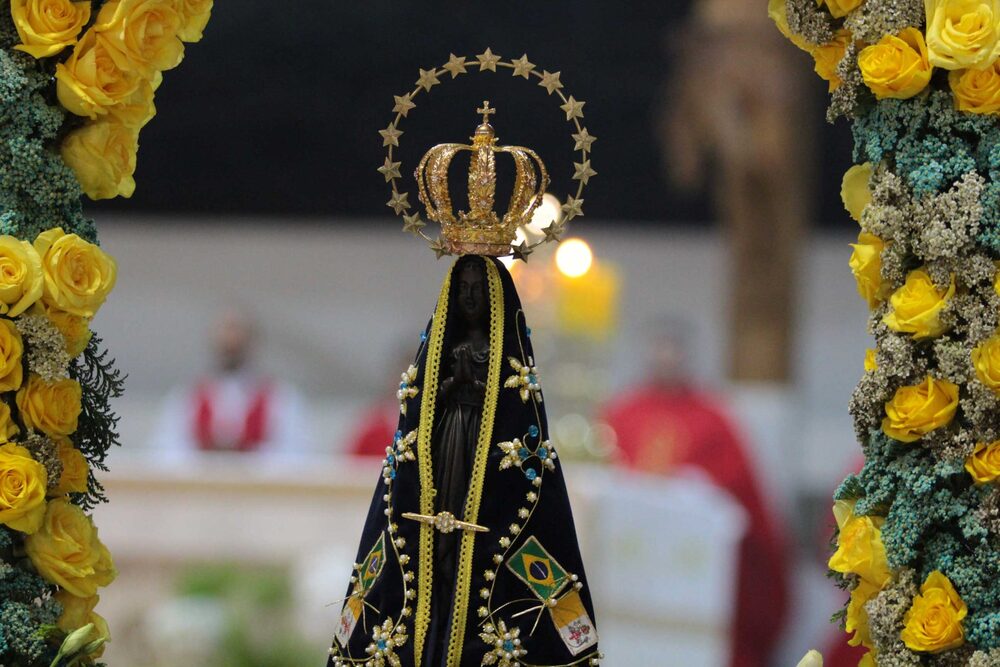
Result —
[{"label": "dark Virgin Mary statue in jewelled navy mantle, below the crown", "polygon": [[461,256],[421,338],[328,667],[597,665],[530,329],[503,264]]}]

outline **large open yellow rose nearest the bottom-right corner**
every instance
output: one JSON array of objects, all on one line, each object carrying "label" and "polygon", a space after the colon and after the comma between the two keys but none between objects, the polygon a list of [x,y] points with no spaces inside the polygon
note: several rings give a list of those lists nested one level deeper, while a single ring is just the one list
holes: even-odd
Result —
[{"label": "large open yellow rose nearest the bottom-right corner", "polygon": [[948,577],[935,570],[913,598],[899,637],[914,651],[940,653],[957,648],[965,642],[962,620],[968,612]]}]

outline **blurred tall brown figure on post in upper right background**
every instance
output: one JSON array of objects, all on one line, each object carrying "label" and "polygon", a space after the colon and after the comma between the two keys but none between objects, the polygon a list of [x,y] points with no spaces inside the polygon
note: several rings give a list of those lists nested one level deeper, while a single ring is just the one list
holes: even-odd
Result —
[{"label": "blurred tall brown figure on post in upper right background", "polygon": [[763,3],[700,0],[672,28],[660,105],[667,176],[707,182],[729,245],[734,380],[786,382],[795,259],[810,200],[804,68]]}]

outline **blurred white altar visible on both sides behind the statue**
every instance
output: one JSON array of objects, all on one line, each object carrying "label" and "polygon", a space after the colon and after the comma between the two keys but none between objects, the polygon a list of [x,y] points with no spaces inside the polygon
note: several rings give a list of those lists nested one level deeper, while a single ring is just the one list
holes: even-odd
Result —
[{"label": "blurred white altar visible on both sides behind the statue", "polygon": [[[113,628],[107,660],[214,667],[229,612],[176,586],[186,568],[214,565],[285,570],[289,618],[249,624],[287,622],[320,665],[378,475],[377,461],[348,457],[118,460],[105,477],[114,502],[96,512],[121,572],[101,596]],[[605,664],[725,664],[738,506],[694,476],[653,480],[570,463],[567,481]]]}]

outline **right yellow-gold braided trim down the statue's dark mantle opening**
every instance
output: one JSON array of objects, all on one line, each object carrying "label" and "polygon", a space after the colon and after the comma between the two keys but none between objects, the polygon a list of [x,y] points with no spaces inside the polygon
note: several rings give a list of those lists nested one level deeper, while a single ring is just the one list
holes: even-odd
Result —
[{"label": "right yellow-gold braided trim down the statue's dark mantle opening", "polygon": [[[476,459],[472,466],[472,479],[469,480],[469,493],[465,499],[464,519],[470,523],[476,523],[479,519],[479,505],[483,499],[483,484],[486,481],[486,460],[489,458],[492,445],[493,421],[497,412],[497,396],[500,393],[500,366],[503,363],[503,285],[500,282],[500,272],[489,260],[486,260],[486,275],[490,289],[490,366],[486,374],[486,396],[483,399],[483,416],[479,427],[479,441],[476,445]],[[455,573],[448,667],[461,667],[459,662],[462,659],[465,624],[469,616],[469,586],[472,583],[475,540],[476,534],[473,532],[462,534],[458,571]]]}]

